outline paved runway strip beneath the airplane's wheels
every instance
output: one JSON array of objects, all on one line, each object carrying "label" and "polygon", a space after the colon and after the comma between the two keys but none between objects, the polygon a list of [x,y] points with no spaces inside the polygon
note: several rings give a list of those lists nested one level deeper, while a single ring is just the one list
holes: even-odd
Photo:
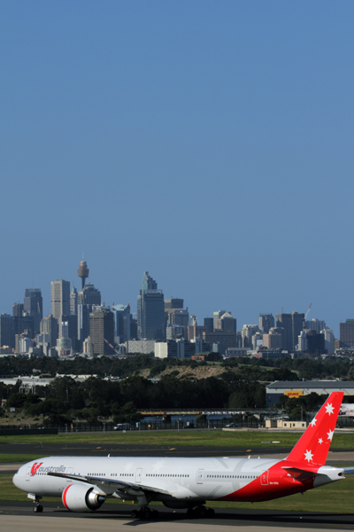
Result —
[{"label": "paved runway strip beneath the airplane's wheels", "polygon": [[[27,532],[42,532],[50,529],[52,532],[69,528],[74,532],[95,531],[97,528],[107,532],[116,532],[123,527],[138,527],[143,532],[200,532],[209,529],[218,532],[267,532],[271,528],[298,531],[314,529],[322,530],[347,530],[354,527],[354,515],[338,513],[315,512],[271,512],[266,510],[217,509],[214,519],[196,519],[187,517],[185,511],[169,510],[158,506],[160,519],[158,521],[132,520],[129,516],[132,505],[119,505],[119,510],[112,510],[112,505],[107,505],[92,513],[68,512],[63,505],[47,503],[42,513],[32,512],[32,504],[0,502],[0,527],[2,532],[26,528]],[[64,519],[64,521],[63,521]]]}]

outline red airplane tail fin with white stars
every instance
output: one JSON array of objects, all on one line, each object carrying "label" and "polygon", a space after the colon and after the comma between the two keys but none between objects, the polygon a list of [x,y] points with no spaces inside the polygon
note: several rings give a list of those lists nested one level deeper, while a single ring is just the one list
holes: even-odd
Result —
[{"label": "red airplane tail fin with white stars", "polygon": [[343,395],[343,392],[333,392],[329,395],[326,403],[290,452],[288,460],[304,464],[326,464]]}]

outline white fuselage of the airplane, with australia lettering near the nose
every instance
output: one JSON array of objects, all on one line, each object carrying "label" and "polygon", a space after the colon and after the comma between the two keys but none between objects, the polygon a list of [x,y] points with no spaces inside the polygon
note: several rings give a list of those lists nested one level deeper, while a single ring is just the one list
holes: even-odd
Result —
[{"label": "white fuselage of the airplane, with australia lettering near the nose", "polygon": [[[73,480],[47,473],[65,473],[161,489],[180,500],[212,500],[226,497],[258,478],[260,481],[260,475],[276,462],[258,458],[38,458],[22,465],[13,482],[27,493],[61,497]],[[115,497],[111,491],[107,489],[107,495]]]}]

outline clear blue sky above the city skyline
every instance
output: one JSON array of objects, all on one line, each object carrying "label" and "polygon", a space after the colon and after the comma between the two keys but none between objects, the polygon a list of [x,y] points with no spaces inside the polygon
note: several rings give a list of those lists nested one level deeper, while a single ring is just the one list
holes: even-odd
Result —
[{"label": "clear blue sky above the city skyline", "polygon": [[0,4],[1,312],[148,270],[200,322],[353,309],[354,4]]}]

